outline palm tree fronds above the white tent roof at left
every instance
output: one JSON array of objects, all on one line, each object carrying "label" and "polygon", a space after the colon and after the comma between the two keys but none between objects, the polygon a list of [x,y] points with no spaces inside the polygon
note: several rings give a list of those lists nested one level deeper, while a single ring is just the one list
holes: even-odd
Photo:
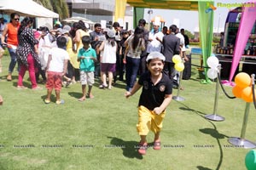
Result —
[{"label": "palm tree fronds above the white tent roof at left", "polygon": [[60,15],[60,20],[68,17],[68,7],[66,0],[33,0],[45,8],[54,11]]}]

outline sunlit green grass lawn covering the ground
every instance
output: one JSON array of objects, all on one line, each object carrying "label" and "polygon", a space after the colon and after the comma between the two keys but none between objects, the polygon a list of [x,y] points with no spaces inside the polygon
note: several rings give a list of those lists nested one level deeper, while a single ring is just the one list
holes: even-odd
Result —
[{"label": "sunlit green grass lawn covering the ground", "polygon": [[[199,63],[192,60],[194,64]],[[0,170],[246,170],[248,149],[234,147],[229,137],[240,137],[246,103],[228,99],[219,90],[217,113],[224,122],[204,118],[213,111],[216,83],[201,84],[195,66],[192,77],[183,80],[180,96],[167,108],[161,132],[161,150],[148,148],[137,154],[137,93],[125,99],[125,83],[112,90],[92,89],[94,99],[79,102],[81,85],[62,88],[64,105],[44,104],[46,89],[32,91],[26,72],[26,90],[17,90],[17,71],[6,81],[9,56],[2,59],[0,94]],[[43,84],[40,84],[44,87]],[[224,87],[233,96],[230,87]],[[173,89],[177,95],[177,89]],[[54,96],[52,96],[55,101]],[[253,105],[247,122],[246,139],[256,141]],[[148,134],[152,142],[154,134]]]}]

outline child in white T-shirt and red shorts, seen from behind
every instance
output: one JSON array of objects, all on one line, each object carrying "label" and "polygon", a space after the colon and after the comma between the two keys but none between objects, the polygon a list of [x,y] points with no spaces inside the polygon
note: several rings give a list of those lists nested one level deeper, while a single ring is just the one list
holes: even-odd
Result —
[{"label": "child in white T-shirt and red shorts, seen from behind", "polygon": [[47,72],[47,82],[46,88],[47,97],[44,99],[45,104],[50,103],[50,95],[53,88],[55,88],[56,94],[56,104],[64,104],[64,100],[60,99],[61,94],[61,79],[67,72],[67,61],[69,56],[67,51],[63,49],[67,44],[66,37],[57,38],[57,48],[51,48],[49,51],[49,59],[47,62],[46,72]]}]

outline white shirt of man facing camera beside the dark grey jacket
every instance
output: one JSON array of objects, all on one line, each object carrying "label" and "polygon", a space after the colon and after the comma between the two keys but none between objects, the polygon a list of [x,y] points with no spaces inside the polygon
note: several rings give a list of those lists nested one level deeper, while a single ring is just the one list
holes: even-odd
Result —
[{"label": "white shirt of man facing camera beside the dark grey jacket", "polygon": [[161,52],[162,43],[156,39],[159,37],[161,41],[163,41],[164,34],[161,31],[154,33],[154,31],[150,31],[148,34],[148,39],[152,39],[151,42],[148,43],[147,53],[151,53],[154,51]]}]

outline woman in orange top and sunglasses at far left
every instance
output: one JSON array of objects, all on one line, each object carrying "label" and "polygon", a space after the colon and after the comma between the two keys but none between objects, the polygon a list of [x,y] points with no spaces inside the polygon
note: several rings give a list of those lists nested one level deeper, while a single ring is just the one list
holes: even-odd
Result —
[{"label": "woman in orange top and sunglasses at far left", "polygon": [[[5,26],[1,41],[3,45],[7,45],[9,50],[9,55],[11,61],[9,63],[9,73],[7,76],[7,81],[12,81],[12,73],[15,69],[17,55],[15,54],[16,48],[18,46],[18,29],[20,27],[20,14],[10,14],[10,22]],[[5,37],[7,36],[7,43],[5,42]]]}]

